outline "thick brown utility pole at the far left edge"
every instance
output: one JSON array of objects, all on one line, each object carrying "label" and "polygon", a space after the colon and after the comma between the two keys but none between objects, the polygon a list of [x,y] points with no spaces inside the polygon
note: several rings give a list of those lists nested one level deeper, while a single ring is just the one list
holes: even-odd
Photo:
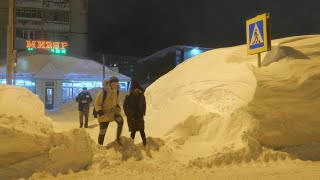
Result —
[{"label": "thick brown utility pole at the far left edge", "polygon": [[15,0],[9,0],[9,25],[7,38],[7,84],[12,84],[13,48],[14,48],[14,17]]}]

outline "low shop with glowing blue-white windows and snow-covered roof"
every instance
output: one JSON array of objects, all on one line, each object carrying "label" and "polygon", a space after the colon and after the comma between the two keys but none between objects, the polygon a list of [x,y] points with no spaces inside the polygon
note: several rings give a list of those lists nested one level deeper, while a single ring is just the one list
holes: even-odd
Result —
[{"label": "low shop with glowing blue-white windows and snow-covered roof", "polygon": [[[20,54],[15,84],[39,95],[46,109],[59,107],[76,97],[83,87],[102,87],[103,67],[89,59],[30,53]],[[116,76],[120,91],[127,92],[131,78],[105,68],[105,78]],[[5,67],[0,67],[0,82],[6,83]]]}]

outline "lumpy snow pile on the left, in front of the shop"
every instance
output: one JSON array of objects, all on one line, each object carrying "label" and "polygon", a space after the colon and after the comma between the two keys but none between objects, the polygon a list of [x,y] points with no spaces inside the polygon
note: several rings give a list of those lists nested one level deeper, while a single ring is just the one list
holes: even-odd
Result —
[{"label": "lumpy snow pile on the left, in front of the shop", "polygon": [[91,163],[92,140],[83,130],[55,133],[38,96],[0,85],[0,179],[78,171]]}]

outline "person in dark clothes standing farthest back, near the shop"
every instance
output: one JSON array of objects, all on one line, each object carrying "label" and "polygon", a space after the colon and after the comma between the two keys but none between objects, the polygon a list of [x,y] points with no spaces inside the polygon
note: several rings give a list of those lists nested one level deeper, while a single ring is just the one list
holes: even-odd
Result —
[{"label": "person in dark clothes standing farthest back, near the shop", "polygon": [[80,128],[83,126],[83,116],[85,117],[84,127],[88,128],[89,108],[92,97],[86,87],[82,88],[82,92],[78,94],[76,101],[78,102]]}]

